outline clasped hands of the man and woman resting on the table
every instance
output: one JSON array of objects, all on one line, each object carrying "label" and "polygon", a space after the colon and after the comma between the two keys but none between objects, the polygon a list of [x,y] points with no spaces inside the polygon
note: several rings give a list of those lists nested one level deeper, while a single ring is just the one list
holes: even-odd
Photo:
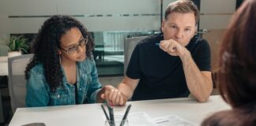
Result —
[{"label": "clasped hands of the man and woman resting on the table", "polygon": [[106,85],[104,94],[101,95],[101,98],[110,102],[112,106],[125,106],[128,98],[126,95],[119,91],[111,85]]}]

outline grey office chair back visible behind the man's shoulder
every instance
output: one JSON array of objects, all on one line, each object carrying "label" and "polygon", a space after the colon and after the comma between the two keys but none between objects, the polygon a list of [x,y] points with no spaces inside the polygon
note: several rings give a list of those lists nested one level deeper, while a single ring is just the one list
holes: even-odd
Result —
[{"label": "grey office chair back visible behind the man's shoulder", "polygon": [[140,36],[140,37],[133,37],[133,38],[126,38],[124,41],[124,75],[126,75],[126,69],[130,61],[130,56],[133,54],[134,48],[138,42],[142,39],[147,38],[147,36]]}]

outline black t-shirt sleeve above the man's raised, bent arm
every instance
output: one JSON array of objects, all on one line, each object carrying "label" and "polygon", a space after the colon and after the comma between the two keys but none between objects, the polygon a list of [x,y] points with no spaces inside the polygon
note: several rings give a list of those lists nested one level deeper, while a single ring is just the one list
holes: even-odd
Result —
[{"label": "black t-shirt sleeve above the man's raised, bent arm", "polygon": [[194,61],[200,71],[211,71],[211,50],[206,40],[201,40],[198,50],[194,54]]}]

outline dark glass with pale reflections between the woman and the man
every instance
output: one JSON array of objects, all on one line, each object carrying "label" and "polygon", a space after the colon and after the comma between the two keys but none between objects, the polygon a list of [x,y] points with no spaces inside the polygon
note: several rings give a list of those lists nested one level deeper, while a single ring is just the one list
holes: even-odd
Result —
[{"label": "dark glass with pale reflections between the woman and the man", "polygon": [[148,36],[159,31],[96,31],[92,32],[95,50],[92,52],[99,76],[123,76],[124,40]]}]

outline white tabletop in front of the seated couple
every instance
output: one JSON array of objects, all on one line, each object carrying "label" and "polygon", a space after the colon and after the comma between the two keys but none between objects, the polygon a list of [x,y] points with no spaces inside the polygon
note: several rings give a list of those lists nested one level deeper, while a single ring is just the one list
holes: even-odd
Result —
[{"label": "white tabletop in front of the seated couple", "polygon": [[[150,117],[175,114],[198,125],[212,113],[230,109],[230,106],[219,95],[211,96],[205,103],[196,102],[193,98],[173,98],[128,102],[127,104],[132,104],[130,113],[145,112]],[[125,109],[126,107],[115,107],[114,112],[124,113]],[[33,122],[43,122],[47,126],[102,126],[104,125],[104,113],[100,104],[19,108],[14,113],[9,126]]]}]

